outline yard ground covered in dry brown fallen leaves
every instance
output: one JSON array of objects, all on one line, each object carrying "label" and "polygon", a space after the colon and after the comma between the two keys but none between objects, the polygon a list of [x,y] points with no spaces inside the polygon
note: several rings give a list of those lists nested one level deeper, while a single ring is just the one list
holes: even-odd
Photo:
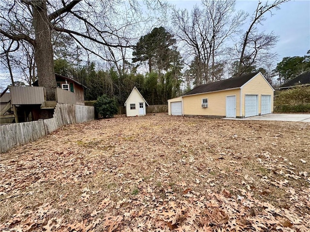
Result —
[{"label": "yard ground covered in dry brown fallen leaves", "polygon": [[0,230],[310,230],[310,124],[166,114],[1,154]]}]

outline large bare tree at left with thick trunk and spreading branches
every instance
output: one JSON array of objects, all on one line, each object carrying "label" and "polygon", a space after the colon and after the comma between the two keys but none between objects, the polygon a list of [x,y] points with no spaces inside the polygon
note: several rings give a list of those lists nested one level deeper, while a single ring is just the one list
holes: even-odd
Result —
[{"label": "large bare tree at left with thick trunk and spreading branches", "polygon": [[[152,5],[151,1],[148,3]],[[124,12],[120,12],[121,4],[126,4]],[[135,23],[134,13],[138,8],[135,0],[129,3],[121,0],[3,0],[0,3],[0,33],[13,41],[24,40],[33,46],[39,86],[46,88],[47,100],[55,100],[51,32],[66,33],[90,54],[105,58],[102,47],[129,46],[119,43],[117,38],[120,36],[116,31],[125,31]],[[117,26],[113,22],[117,22]],[[127,41],[125,37],[121,39]]]}]

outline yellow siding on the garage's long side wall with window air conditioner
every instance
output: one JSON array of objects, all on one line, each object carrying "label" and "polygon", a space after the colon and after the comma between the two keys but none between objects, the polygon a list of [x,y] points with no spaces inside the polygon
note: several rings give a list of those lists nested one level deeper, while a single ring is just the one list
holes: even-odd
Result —
[{"label": "yellow siding on the garage's long side wall with window air conditioner", "polygon": [[[183,96],[184,115],[226,116],[226,96],[236,96],[236,116],[240,116],[240,89]],[[208,108],[202,108],[208,98]]]}]

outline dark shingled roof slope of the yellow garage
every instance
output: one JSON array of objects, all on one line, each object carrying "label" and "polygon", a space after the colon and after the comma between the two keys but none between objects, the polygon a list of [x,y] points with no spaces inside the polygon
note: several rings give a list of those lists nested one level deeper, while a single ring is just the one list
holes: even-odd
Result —
[{"label": "dark shingled roof slope of the yellow garage", "polygon": [[192,90],[188,91],[187,93],[185,93],[183,96],[242,87],[244,84],[246,84],[251,78],[253,78],[258,73],[243,74],[238,77],[233,77],[233,78],[229,78],[226,80],[221,80],[221,81],[197,86],[193,88]]}]

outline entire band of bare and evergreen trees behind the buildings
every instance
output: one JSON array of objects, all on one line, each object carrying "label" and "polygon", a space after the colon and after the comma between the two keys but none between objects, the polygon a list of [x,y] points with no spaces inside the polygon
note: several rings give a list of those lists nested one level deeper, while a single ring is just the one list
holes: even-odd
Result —
[{"label": "entire band of bare and evergreen trees behind the buildings", "polygon": [[286,1],[259,1],[247,13],[235,10],[235,0],[202,0],[191,10],[144,0],[145,15],[137,1],[3,0],[1,62],[12,85],[22,84],[13,76],[18,68],[26,84],[39,80],[48,100],[55,99],[54,73],[86,86],[86,100],[107,94],[120,104],[134,86],[150,104],[163,104],[194,86],[243,73],[286,82],[309,69],[309,54],[283,58],[274,69],[270,51],[279,37],[259,29]]}]

